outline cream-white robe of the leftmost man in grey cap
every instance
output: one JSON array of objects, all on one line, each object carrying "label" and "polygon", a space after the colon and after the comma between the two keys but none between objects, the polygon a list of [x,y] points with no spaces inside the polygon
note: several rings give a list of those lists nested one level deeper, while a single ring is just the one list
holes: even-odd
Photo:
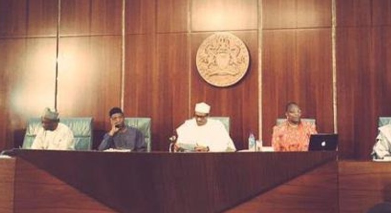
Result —
[{"label": "cream-white robe of the leftmost man in grey cap", "polygon": [[53,131],[41,127],[38,130],[31,149],[37,150],[74,150],[73,132],[65,124],[58,123]]}]

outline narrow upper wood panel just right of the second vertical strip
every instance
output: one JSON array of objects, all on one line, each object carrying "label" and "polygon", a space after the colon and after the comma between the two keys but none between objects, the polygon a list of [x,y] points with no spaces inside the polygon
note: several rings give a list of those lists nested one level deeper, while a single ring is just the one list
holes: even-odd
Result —
[{"label": "narrow upper wood panel just right of the second vertical strip", "polygon": [[126,0],[125,7],[127,33],[156,31],[156,0]]}]

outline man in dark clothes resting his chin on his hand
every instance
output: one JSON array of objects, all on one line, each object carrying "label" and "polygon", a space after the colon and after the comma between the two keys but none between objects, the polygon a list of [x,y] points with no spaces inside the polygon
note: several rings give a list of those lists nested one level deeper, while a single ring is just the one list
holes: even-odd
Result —
[{"label": "man in dark clothes resting his chin on his hand", "polygon": [[113,107],[109,111],[111,129],[103,136],[98,150],[130,150],[145,152],[147,143],[143,133],[131,126],[125,125],[124,113],[121,108]]}]

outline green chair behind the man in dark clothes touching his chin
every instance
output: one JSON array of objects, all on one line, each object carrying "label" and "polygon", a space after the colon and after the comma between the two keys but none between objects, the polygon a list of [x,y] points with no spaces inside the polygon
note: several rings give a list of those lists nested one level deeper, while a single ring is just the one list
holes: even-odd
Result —
[{"label": "green chair behind the man in dark clothes touching his chin", "polygon": [[151,150],[151,118],[150,117],[126,117],[125,124],[140,130],[147,143],[147,152]]}]

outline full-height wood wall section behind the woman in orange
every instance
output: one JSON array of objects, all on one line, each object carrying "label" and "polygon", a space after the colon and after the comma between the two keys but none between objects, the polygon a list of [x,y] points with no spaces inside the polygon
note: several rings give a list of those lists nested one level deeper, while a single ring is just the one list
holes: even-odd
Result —
[{"label": "full-height wood wall section behind the woman in orange", "polygon": [[263,0],[262,8],[264,144],[291,101],[318,132],[333,132],[331,0]]}]

